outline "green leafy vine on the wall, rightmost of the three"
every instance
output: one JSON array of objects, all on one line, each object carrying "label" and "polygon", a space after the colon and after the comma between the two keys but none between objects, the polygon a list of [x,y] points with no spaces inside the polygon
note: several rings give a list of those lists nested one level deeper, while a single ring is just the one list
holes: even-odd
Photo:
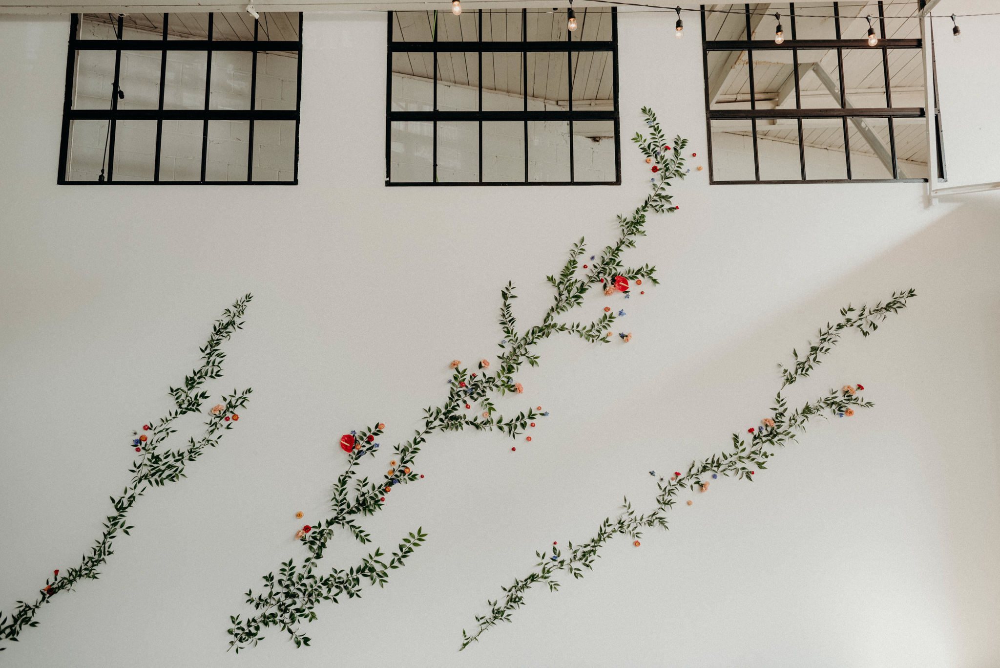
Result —
[{"label": "green leafy vine on the wall, rightmost of the three", "polygon": [[[782,367],[781,388],[774,398],[771,407],[771,417],[761,421],[762,426],[749,430],[752,434],[749,443],[739,434],[733,434],[731,448],[701,462],[695,461],[688,467],[686,473],[675,472],[666,482],[660,479],[659,494],[656,506],[649,512],[640,514],[632,508],[625,499],[621,514],[614,520],[605,518],[597,529],[597,533],[588,541],[574,546],[569,543],[564,554],[558,546],[549,550],[536,552],[540,560],[535,570],[524,578],[516,578],[509,587],[502,587],[503,600],[488,601],[490,611],[486,615],[476,616],[476,629],[472,633],[462,631],[462,646],[465,649],[479,637],[500,622],[512,621],[513,612],[525,603],[524,594],[535,585],[544,584],[550,591],[559,589],[559,581],[554,578],[558,571],[582,578],[584,569],[592,570],[594,562],[600,557],[600,549],[618,535],[625,535],[635,541],[636,547],[642,538],[642,531],[647,528],[660,527],[667,529],[667,513],[674,506],[675,497],[684,488],[705,491],[710,485],[709,476],[735,477],[739,480],[753,481],[758,469],[766,469],[767,461],[776,454],[778,448],[783,448],[805,432],[806,425],[817,417],[825,414],[837,416],[852,416],[854,409],[869,409],[874,406],[865,402],[857,394],[862,386],[844,386],[841,390],[830,392],[815,401],[808,402],[801,408],[790,410],[787,400],[781,392],[801,378],[807,378],[821,363],[821,358],[829,354],[840,341],[841,333],[854,329],[867,337],[878,328],[878,323],[890,313],[897,313],[905,308],[909,299],[916,296],[913,289],[893,292],[885,302],[881,301],[872,307],[841,308],[842,320],[835,324],[829,322],[820,328],[819,338],[815,344],[810,344],[809,352],[803,357],[793,351],[795,364],[789,368]],[[752,468],[751,468],[752,467]],[[651,472],[652,473],[652,472]],[[690,503],[690,502],[689,502]]]}]

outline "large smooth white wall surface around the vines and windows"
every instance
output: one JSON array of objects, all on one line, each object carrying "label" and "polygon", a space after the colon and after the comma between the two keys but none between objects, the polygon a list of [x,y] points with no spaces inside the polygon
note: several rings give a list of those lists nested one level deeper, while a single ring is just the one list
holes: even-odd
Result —
[{"label": "large smooth white wall surface around the vines and windows", "polygon": [[[383,185],[382,13],[306,15],[299,186],[56,186],[68,20],[0,20],[5,610],[87,549],[127,479],[131,430],[169,408],[211,319],[255,294],[214,388],[254,388],[239,429],[142,500],[101,579],[60,595],[5,664],[358,666],[389,648],[434,667],[1000,662],[1000,199],[929,206],[920,184],[709,186],[695,169],[674,184],[680,212],[651,219],[630,252],[663,281],[614,301],[634,340],[547,342],[520,377],[527,394],[503,404],[550,411],[533,442],[512,453],[497,436],[436,438],[426,479],[367,523],[383,547],[418,526],[430,535],[384,590],[322,607],[311,649],[272,630],[225,653],[242,592],[304,556],[293,514],[325,512],[339,435],[377,419],[387,442],[406,438],[440,401],[447,363],[494,350],[500,286],[513,279],[519,322],[535,321],[570,243],[602,246],[645,195],[648,165],[628,141],[645,129],[639,107],[690,137],[690,164],[702,163],[700,45],[653,48],[673,20],[621,18],[624,184],[521,189]],[[1000,178],[988,148],[1000,99],[969,85],[997,56],[1000,21],[962,30],[938,50],[949,185]],[[535,550],[591,536],[623,494],[649,508],[646,472],[754,425],[774,364],[816,325],[910,285],[920,296],[906,312],[845,339],[792,393],[860,382],[875,409],[817,425],[755,485],[713,485],[640,549],[616,541],[585,579],[533,591],[514,624],[456,652]],[[606,302],[588,299],[580,319]],[[344,539],[326,561],[361,552]]]}]

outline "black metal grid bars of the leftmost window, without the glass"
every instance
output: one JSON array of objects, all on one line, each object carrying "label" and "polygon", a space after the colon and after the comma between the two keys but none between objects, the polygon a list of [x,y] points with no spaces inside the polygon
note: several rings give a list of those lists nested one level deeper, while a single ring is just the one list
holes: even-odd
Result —
[{"label": "black metal grid bars of the leftmost window, without the glass", "polygon": [[[213,37],[214,12],[208,13],[208,38],[203,40],[181,40],[167,38],[170,14],[163,15],[163,37],[154,39],[121,39],[122,18],[118,18],[118,39],[80,39],[79,28],[82,14],[73,14],[70,18],[69,47],[66,57],[66,94],[63,99],[63,121],[59,144],[59,174],[56,183],[59,185],[298,185],[299,183],[299,127],[302,111],[302,25],[303,14],[299,12],[298,40],[261,41],[258,39],[260,21],[254,20],[253,41],[215,41]],[[115,51],[115,81],[112,84],[112,100],[110,109],[74,109],[73,88],[76,73],[77,54],[80,51]],[[160,91],[157,109],[119,109],[118,80],[122,51],[160,51]],[[166,89],[167,51],[205,51],[205,105],[203,109],[164,109],[164,91]],[[252,52],[252,70],[250,83],[250,109],[209,110],[212,83],[212,52],[213,51],[250,51]],[[257,89],[257,54],[261,51],[294,51],[298,55],[298,83],[294,110],[273,110],[256,108]],[[129,181],[114,179],[115,134],[119,120],[155,120],[156,149],[152,181]],[[75,181],[67,178],[70,151],[70,125],[74,120],[107,120],[108,128],[108,169],[104,181]],[[163,181],[160,180],[160,157],[163,140],[163,121],[165,120],[201,120],[204,121],[201,148],[201,174],[198,180]],[[245,181],[210,181],[205,178],[206,161],[208,158],[208,123],[211,120],[248,120],[250,121],[247,139],[247,179]],[[252,180],[253,178],[253,137],[254,121],[258,120],[294,120],[295,121],[295,164],[294,174],[290,181]]]}]

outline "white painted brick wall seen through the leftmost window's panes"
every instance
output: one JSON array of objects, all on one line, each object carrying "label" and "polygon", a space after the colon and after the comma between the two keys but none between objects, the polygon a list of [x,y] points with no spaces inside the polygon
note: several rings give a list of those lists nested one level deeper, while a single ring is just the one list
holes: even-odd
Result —
[{"label": "white painted brick wall seen through the leftmost window's panes", "polygon": [[[85,34],[114,38],[111,27],[85,23]],[[126,38],[129,35],[126,32]],[[133,38],[136,36],[133,35]],[[296,58],[273,53],[257,56],[257,108],[295,109]],[[159,104],[160,53],[123,51],[123,109],[156,109]],[[205,105],[206,54],[168,51],[164,108],[202,109]],[[249,109],[252,56],[244,51],[212,53],[210,109]],[[81,51],[76,77],[75,108],[106,109],[114,81],[114,52]],[[75,121],[71,137],[70,180],[97,180],[104,157],[107,123]],[[161,180],[201,177],[202,121],[164,121],[160,157]],[[120,121],[115,129],[115,180],[153,180],[155,121]],[[247,177],[248,121],[212,121],[208,128],[205,177],[243,181]],[[257,121],[254,125],[254,180],[294,177],[295,122]]]}]

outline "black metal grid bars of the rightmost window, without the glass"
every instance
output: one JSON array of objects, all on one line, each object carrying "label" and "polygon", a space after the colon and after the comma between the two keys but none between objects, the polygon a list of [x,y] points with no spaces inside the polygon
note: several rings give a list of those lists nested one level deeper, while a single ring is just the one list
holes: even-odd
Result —
[{"label": "black metal grid bars of the rightmost window, without the glass", "polygon": [[[791,21],[791,39],[786,39],[781,44],[776,44],[773,40],[709,40],[706,31],[705,5],[701,5],[701,44],[702,44],[702,67],[705,77],[705,125],[708,137],[708,178],[712,185],[745,185],[747,183],[763,184],[785,184],[785,183],[926,183],[927,178],[898,178],[899,164],[896,155],[896,137],[893,120],[896,118],[925,118],[927,110],[924,107],[893,107],[892,87],[889,77],[889,49],[922,49],[922,39],[886,39],[885,38],[885,14],[883,2],[879,0],[879,30],[880,38],[878,46],[868,46],[865,39],[841,39],[840,38],[840,3],[833,3],[833,16],[836,39],[798,39],[795,28],[795,3],[789,3],[789,20]],[[746,17],[746,34],[752,34],[750,30],[750,3],[744,4],[744,15]],[[825,49],[837,51],[837,71],[840,89],[840,107],[825,109],[803,109],[801,92],[799,89],[798,72],[798,52],[799,49]],[[882,70],[885,76],[886,106],[873,108],[854,108],[847,106],[844,88],[844,50],[845,49],[879,49],[882,52]],[[753,52],[754,51],[785,51],[792,52],[792,76],[795,79],[795,107],[794,109],[757,109],[756,97],[754,95],[753,76]],[[712,100],[709,94],[708,77],[708,54],[710,51],[746,51],[749,60],[750,77],[750,109],[712,109]],[[936,93],[936,90],[935,90]],[[939,112],[936,113],[936,116]],[[762,180],[760,178],[760,157],[757,149],[757,120],[761,118],[784,118],[797,120],[798,144],[799,144],[799,167],[802,177],[800,179]],[[824,178],[810,179],[806,171],[805,144],[803,141],[802,120],[805,118],[840,118],[844,131],[844,163],[847,178]],[[851,178],[851,149],[849,139],[848,120],[852,118],[885,118],[889,127],[889,144],[892,161],[893,178]],[[712,156],[712,121],[713,120],[749,120],[751,132],[753,134],[753,155],[754,155],[754,176],[753,179],[741,180],[717,180],[715,178],[715,167]],[[940,124],[940,121],[938,120]],[[940,143],[938,144],[939,150]],[[943,163],[944,157],[941,153],[938,161]],[[928,165],[930,166],[930,165]]]}]

